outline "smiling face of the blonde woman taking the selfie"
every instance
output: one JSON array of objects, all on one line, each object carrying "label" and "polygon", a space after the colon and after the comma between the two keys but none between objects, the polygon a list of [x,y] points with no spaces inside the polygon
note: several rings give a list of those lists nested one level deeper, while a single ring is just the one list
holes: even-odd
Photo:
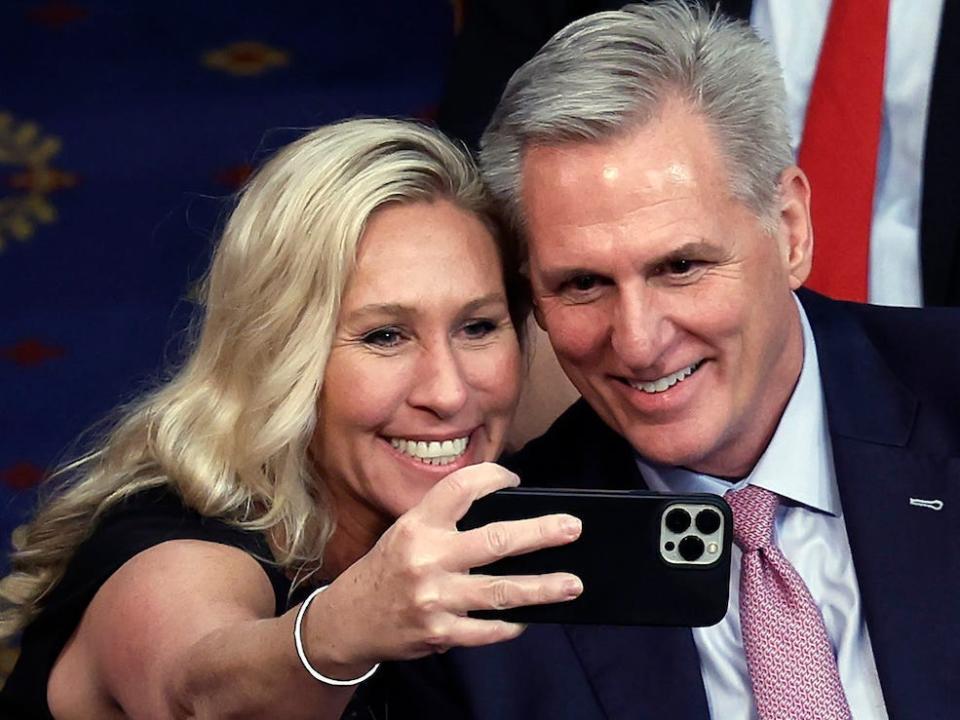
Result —
[{"label": "smiling face of the blonde woman taking the selfie", "polygon": [[376,212],[344,294],[312,452],[338,520],[379,524],[499,454],[520,349],[493,237],[445,200]]}]

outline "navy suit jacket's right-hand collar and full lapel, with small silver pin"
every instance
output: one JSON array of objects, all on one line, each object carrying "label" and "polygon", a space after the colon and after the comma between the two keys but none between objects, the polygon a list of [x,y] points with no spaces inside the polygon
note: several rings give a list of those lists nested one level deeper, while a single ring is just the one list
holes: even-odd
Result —
[{"label": "navy suit jacket's right-hand collar and full lapel, with small silver pin", "polygon": [[[960,666],[960,462],[908,448],[916,398],[843,306],[801,298],[817,340],[837,484],[887,710],[940,717],[955,700]],[[911,498],[940,500],[942,510]]]}]

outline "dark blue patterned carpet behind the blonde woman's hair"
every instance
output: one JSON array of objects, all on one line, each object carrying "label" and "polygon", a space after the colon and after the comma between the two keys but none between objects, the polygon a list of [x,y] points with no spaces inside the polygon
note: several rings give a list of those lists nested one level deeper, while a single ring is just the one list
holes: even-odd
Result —
[{"label": "dark blue patterned carpet behind the blonde woman's hair", "polygon": [[4,548],[78,434],[177,357],[190,288],[251,167],[339,118],[429,117],[458,10],[0,4]]}]

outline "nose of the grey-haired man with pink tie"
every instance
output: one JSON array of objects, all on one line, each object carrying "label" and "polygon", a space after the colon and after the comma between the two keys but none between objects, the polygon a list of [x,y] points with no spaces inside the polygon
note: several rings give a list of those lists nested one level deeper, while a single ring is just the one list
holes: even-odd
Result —
[{"label": "nose of the grey-haired man with pink tie", "polygon": [[651,367],[669,341],[669,325],[651,298],[637,292],[621,293],[611,321],[610,343],[626,367]]}]

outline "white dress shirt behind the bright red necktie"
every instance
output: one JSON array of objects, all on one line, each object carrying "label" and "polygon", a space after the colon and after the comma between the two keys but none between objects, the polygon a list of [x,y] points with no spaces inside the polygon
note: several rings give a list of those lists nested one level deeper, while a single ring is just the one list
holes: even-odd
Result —
[{"label": "white dress shirt behind the bright red necktie", "polygon": [[[890,0],[870,233],[868,296],[880,305],[923,304],[919,240],[923,150],[942,10],[943,0]],[[830,0],[753,2],[750,21],[783,68],[794,151],[803,136],[829,11]]]}]

